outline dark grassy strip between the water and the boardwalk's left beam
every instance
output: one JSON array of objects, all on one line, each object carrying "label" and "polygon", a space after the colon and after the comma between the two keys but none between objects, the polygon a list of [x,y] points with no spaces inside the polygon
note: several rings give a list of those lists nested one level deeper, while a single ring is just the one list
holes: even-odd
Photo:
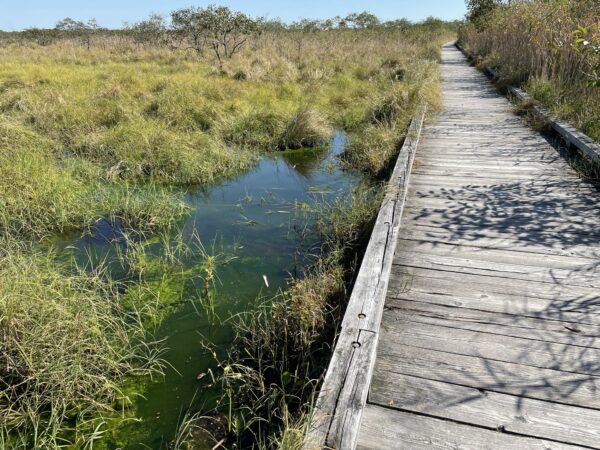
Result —
[{"label": "dark grassy strip between the water and the boardwalk's left beam", "polygon": [[288,289],[230,319],[233,347],[212,381],[223,393],[216,411],[226,419],[230,444],[295,448],[302,442],[308,425],[301,417],[308,417],[330,357],[381,192],[360,187],[349,199],[317,206],[321,256]]}]

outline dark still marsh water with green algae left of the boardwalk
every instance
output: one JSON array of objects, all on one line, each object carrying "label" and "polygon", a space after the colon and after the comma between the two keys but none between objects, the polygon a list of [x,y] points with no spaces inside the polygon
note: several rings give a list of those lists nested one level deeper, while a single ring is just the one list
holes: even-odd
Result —
[{"label": "dark still marsh water with green algae left of the boardwalk", "polygon": [[[307,211],[347,196],[361,180],[340,167],[344,145],[338,133],[327,147],[265,156],[236,179],[186,191],[192,212],[183,233],[196,233],[205,247],[231,256],[216,269],[213,300],[220,320],[187,302],[161,322],[156,334],[166,348],[165,376],[146,383],[143,397],[132,406],[132,421],[109,429],[102,447],[168,448],[186,411],[208,407],[219,395],[207,388],[204,374],[216,361],[201,343],[210,342],[224,354],[232,329],[223,319],[285,289],[290,277],[310,263],[318,239],[307,226],[314,220]],[[66,239],[63,251],[75,258],[101,258],[119,245],[113,228],[101,222],[89,235]],[[189,261],[190,267],[196,263],[193,257]]]}]

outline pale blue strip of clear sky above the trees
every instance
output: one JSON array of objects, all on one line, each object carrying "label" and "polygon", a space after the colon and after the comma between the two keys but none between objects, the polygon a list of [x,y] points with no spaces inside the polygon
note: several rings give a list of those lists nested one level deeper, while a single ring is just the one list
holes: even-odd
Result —
[{"label": "pale blue strip of clear sky above the trees", "polygon": [[176,8],[209,3],[284,21],[323,19],[364,10],[382,19],[406,17],[414,21],[427,16],[460,19],[465,14],[464,0],[0,0],[0,29],[52,27],[66,16],[78,20],[94,17],[102,26],[119,27],[123,21],[136,22],[152,12],[167,14]]}]

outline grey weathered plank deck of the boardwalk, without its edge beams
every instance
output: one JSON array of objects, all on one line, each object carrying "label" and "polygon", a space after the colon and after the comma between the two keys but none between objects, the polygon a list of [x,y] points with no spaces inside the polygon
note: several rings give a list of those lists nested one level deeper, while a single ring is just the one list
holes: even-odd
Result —
[{"label": "grey weathered plank deck of the boardwalk, without its edge beams", "polygon": [[442,75],[358,448],[600,449],[600,194],[452,45]]}]

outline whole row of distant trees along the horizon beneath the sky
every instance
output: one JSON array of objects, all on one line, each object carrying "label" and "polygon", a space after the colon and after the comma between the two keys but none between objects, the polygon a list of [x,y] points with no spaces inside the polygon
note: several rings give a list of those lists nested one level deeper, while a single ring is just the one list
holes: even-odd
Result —
[{"label": "whole row of distant trees along the horizon beneath the sky", "polygon": [[[419,23],[424,31],[435,31],[448,23],[429,17]],[[458,23],[457,23],[458,24]],[[30,28],[20,32],[1,32],[3,41],[33,41],[49,45],[61,39],[80,41],[88,48],[94,40],[104,42],[116,36],[131,39],[140,45],[169,46],[174,49],[191,49],[199,55],[211,52],[220,67],[226,59],[240,51],[248,40],[265,32],[322,32],[333,30],[407,30],[413,26],[408,19],[381,21],[367,11],[337,16],[326,20],[302,19],[285,23],[278,19],[252,18],[225,6],[209,5],[205,8],[177,9],[164,17],[153,14],[121,29],[103,28],[95,19],[87,22],[67,17],[52,29]]]}]

